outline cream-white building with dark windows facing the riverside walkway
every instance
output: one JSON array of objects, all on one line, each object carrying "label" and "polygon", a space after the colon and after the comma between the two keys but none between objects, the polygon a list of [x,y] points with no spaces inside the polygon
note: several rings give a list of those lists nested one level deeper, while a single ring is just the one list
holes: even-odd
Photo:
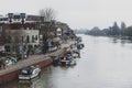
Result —
[{"label": "cream-white building with dark windows facing the riverside walkway", "polygon": [[15,54],[16,50],[26,53],[40,44],[38,30],[7,30],[6,52]]}]

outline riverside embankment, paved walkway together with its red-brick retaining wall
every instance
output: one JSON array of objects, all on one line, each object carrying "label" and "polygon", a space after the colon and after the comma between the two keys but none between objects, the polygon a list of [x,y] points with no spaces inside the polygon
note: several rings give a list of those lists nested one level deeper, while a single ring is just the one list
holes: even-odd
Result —
[{"label": "riverside embankment, paved walkway together with its red-brick retaining wall", "polygon": [[51,56],[65,54],[67,50],[70,47],[70,45],[73,44],[75,44],[74,41],[68,41],[67,43],[63,43],[61,48],[55,52],[47,53],[45,55],[32,55],[32,56],[29,56],[29,58],[26,59],[18,62],[15,65],[11,65],[6,67],[6,69],[1,69],[0,84],[18,78],[20,69],[23,67],[31,66],[31,65],[40,65],[41,67],[45,67],[51,65],[52,63]]}]

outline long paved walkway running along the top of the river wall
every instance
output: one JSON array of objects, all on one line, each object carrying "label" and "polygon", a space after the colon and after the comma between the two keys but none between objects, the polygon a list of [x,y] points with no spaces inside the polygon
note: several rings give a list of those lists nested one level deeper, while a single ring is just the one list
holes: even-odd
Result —
[{"label": "long paved walkway running along the top of the river wall", "polygon": [[50,56],[57,56],[57,55],[62,54],[64,51],[66,51],[65,48],[69,47],[72,44],[74,44],[74,42],[68,41],[68,43],[62,44],[61,50],[57,50],[56,52],[48,53],[46,55],[32,55],[32,56],[29,56],[29,58],[20,61],[15,65],[10,65],[10,66],[6,67],[6,69],[1,69],[0,70],[0,76],[2,76],[4,74],[8,74],[8,73],[11,73],[13,70],[18,70],[18,69],[21,69],[23,67],[33,65],[33,64],[42,62],[44,59],[48,59],[48,58],[51,58]]}]

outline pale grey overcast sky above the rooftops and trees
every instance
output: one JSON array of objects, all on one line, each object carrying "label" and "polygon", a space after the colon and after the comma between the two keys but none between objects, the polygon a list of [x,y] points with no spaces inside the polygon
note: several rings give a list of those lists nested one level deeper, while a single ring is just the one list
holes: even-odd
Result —
[{"label": "pale grey overcast sky above the rooftops and trees", "polygon": [[38,14],[53,8],[56,20],[72,29],[109,28],[117,21],[132,25],[132,0],[0,0],[0,14],[9,12]]}]

